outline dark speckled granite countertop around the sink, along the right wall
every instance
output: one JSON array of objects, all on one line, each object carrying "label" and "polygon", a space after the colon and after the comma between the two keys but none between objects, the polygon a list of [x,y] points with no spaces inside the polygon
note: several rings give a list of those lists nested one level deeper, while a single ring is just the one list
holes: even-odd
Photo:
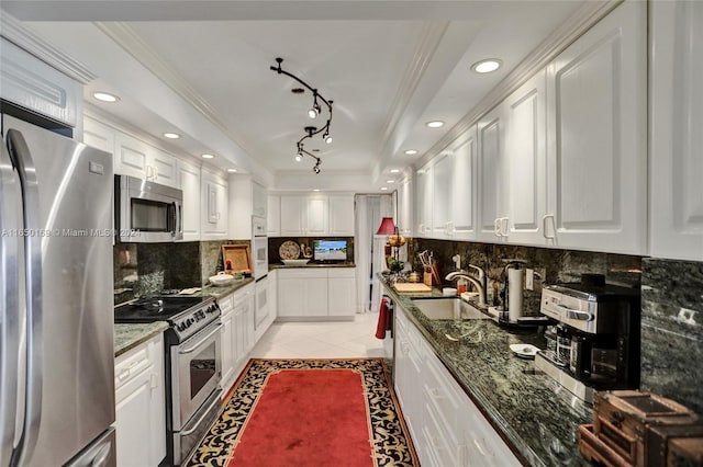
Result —
[{"label": "dark speckled granite countertop around the sink, along the right wall", "polygon": [[[411,298],[442,296],[442,292],[398,293],[381,276],[386,293],[397,309],[417,327],[439,360],[511,448],[531,466],[590,465],[579,453],[578,426],[590,423],[592,409],[549,376],[534,361],[514,355],[510,344],[525,343],[545,349],[535,329],[502,328],[490,319],[429,320]],[[480,342],[469,338],[481,332]]]}]

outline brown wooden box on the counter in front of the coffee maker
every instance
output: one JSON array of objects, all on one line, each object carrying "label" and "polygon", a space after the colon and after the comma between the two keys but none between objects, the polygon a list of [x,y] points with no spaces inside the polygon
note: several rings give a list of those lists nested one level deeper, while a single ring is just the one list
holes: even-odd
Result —
[{"label": "brown wooden box on the counter in front of the coffee maker", "polygon": [[593,398],[593,432],[633,465],[646,465],[647,431],[658,425],[699,421],[684,406],[650,392],[614,390]]}]

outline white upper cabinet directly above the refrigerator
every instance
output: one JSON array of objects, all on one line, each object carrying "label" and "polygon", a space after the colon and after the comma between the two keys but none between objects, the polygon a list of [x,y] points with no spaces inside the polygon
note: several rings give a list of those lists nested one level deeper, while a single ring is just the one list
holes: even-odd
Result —
[{"label": "white upper cabinet directly above the refrigerator", "polygon": [[0,98],[24,109],[78,126],[82,86],[0,37]]}]

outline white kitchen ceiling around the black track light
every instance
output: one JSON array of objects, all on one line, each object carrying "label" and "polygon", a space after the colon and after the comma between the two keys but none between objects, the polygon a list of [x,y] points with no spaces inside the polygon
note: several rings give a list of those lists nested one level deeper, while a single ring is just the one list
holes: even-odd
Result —
[{"label": "white kitchen ceiling around the black track light", "polygon": [[[220,167],[310,183],[312,159],[293,156],[303,127],[317,121],[306,116],[311,94],[292,94],[298,83],[269,70],[282,57],[284,70],[334,101],[333,144],[305,144],[320,149],[316,178],[355,174],[366,185],[355,189],[373,191],[391,168],[419,160],[581,3],[3,0],[2,9],[98,76],[87,101],[98,89],[120,94],[118,104],[96,103],[103,112],[155,137],[180,133],[172,146],[213,151]],[[487,57],[503,67],[470,70]],[[431,129],[429,119],[446,125]],[[410,148],[419,155],[404,156]]]}]

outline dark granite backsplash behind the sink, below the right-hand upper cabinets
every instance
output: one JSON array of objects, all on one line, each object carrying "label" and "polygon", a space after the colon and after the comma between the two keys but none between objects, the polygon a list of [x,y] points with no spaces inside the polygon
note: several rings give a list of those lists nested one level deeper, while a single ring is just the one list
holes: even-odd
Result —
[{"label": "dark granite backsplash behind the sink, below the right-hand upper cabinets", "polygon": [[461,269],[466,270],[469,264],[483,269],[488,275],[489,287],[491,281],[498,281],[501,289],[504,281],[504,260],[524,260],[525,266],[538,274],[535,276],[534,289],[524,291],[523,314],[526,316],[539,314],[543,284],[579,282],[583,273],[604,274],[607,283],[625,287],[638,288],[641,282],[641,257],[412,238],[409,239],[408,258],[414,271],[422,272],[417,253],[424,250],[433,252],[443,278],[456,269],[451,257],[459,254]]}]

